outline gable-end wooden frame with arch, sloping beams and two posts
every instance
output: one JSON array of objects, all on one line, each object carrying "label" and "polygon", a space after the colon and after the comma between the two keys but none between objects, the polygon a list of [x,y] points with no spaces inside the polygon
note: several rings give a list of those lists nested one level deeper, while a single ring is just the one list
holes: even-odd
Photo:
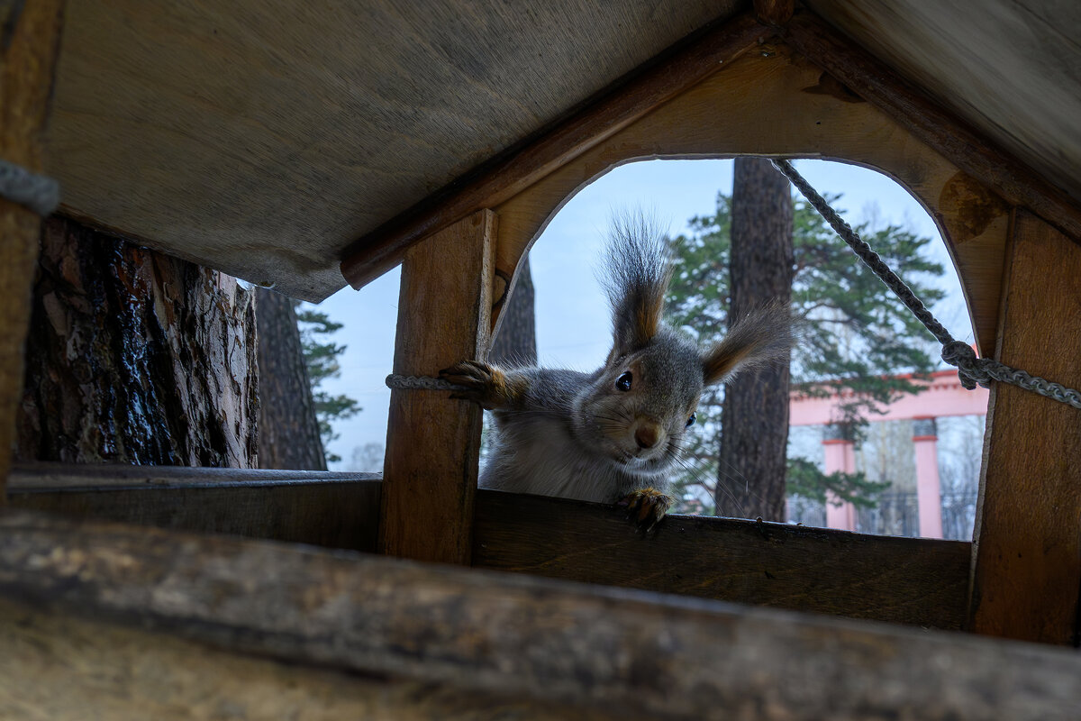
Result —
[{"label": "gable-end wooden frame with arch, sloping beams and two posts", "polygon": [[[728,155],[842,158],[892,176],[943,231],[983,353],[1079,383],[1078,356],[1053,350],[1076,347],[1078,333],[1050,320],[1075,310],[1046,279],[1081,277],[1081,211],[809,14],[783,29],[745,16],[699,37],[362,239],[343,273],[359,286],[405,259],[397,349],[410,352],[396,353],[395,371],[431,374],[486,351],[521,257],[577,189],[632,159]],[[438,293],[427,289],[429,298],[452,298],[471,309],[467,317],[437,330],[412,320],[438,311],[425,293],[406,292],[429,282],[440,284]],[[1006,414],[996,414],[1003,404]],[[1075,414],[1016,388],[992,389],[969,584],[972,630],[1055,643],[1078,637]],[[479,418],[396,391],[390,423],[381,550],[469,563]],[[432,429],[444,438],[417,454],[411,439],[430,440]]]}]

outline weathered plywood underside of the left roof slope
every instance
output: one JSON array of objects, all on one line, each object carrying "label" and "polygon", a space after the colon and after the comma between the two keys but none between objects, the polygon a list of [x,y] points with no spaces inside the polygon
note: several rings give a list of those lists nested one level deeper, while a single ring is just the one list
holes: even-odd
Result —
[{"label": "weathered plywood underside of the left roof slope", "polygon": [[70,0],[51,171],[88,225],[318,302],[350,242],[738,4]]}]

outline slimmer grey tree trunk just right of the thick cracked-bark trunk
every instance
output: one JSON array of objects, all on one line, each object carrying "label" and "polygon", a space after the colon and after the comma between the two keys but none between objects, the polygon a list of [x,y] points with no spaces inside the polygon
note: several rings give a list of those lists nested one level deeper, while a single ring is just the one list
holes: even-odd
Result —
[{"label": "slimmer grey tree trunk just right of the thick cracked-bark trunk", "polygon": [[293,302],[255,289],[259,350],[259,468],[326,470]]}]

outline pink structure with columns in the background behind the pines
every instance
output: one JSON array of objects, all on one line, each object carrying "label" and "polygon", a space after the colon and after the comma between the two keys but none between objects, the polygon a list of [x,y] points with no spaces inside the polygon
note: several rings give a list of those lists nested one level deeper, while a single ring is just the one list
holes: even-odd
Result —
[{"label": "pink structure with columns in the background behind the pines", "polygon": [[[917,380],[916,383],[920,383]],[[937,371],[932,374],[926,388],[919,393],[906,395],[891,403],[884,415],[875,420],[908,420],[912,424],[912,444],[916,453],[917,502],[920,509],[920,535],[942,538],[942,506],[938,481],[938,449],[935,418],[987,413],[986,388],[965,390],[956,371]],[[849,395],[851,397],[851,393]],[[843,395],[811,398],[792,393],[789,402],[789,424],[792,426],[826,426],[823,440],[826,472],[856,470],[855,444],[843,437],[838,403]],[[856,529],[856,509],[852,504],[826,504],[826,525],[831,529]]]}]

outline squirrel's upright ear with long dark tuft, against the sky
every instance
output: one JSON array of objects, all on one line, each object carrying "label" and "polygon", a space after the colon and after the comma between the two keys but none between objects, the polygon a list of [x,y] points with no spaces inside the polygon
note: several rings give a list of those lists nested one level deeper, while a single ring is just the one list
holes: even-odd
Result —
[{"label": "squirrel's upright ear with long dark tuft, against the sky", "polygon": [[671,268],[664,233],[643,213],[613,218],[603,283],[612,304],[613,353],[644,347],[660,329]]}]

